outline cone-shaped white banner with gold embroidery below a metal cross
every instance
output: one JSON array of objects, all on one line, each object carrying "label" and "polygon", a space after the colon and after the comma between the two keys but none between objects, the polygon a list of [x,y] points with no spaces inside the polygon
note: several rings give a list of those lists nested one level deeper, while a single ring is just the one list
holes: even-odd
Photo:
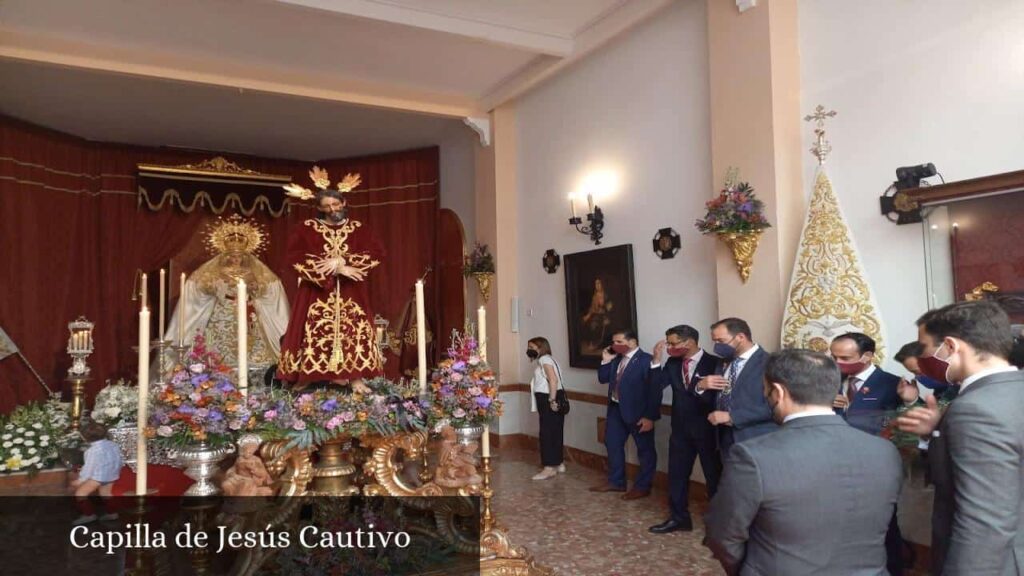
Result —
[{"label": "cone-shaped white banner with gold embroidery below a metal cross", "polygon": [[863,332],[874,338],[874,356],[882,360],[878,311],[831,181],[819,168],[793,269],[782,345],[827,352],[836,336]]}]

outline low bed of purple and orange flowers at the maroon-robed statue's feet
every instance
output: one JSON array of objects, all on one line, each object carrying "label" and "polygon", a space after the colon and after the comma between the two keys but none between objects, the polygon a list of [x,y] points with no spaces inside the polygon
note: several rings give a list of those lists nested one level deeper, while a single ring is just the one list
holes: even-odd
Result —
[{"label": "low bed of purple and orange flowers at the maroon-robed statue's feet", "polygon": [[270,390],[249,398],[263,440],[309,448],[337,438],[391,436],[426,428],[426,404],[415,381],[367,380],[370,394],[332,387],[308,393]]}]

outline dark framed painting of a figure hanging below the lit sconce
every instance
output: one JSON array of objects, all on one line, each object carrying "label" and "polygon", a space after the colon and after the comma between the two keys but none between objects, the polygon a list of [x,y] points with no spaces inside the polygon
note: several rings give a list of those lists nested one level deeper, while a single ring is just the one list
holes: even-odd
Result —
[{"label": "dark framed painting of a figure hanging below the lit sconce", "polygon": [[637,328],[633,245],[565,254],[569,366],[597,368],[611,335]]}]

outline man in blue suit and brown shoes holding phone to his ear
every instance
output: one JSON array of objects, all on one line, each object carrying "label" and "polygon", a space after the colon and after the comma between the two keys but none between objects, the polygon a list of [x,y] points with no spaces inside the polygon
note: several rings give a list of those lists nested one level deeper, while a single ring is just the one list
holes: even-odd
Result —
[{"label": "man in blue suit and brown shoes holding phone to his ear", "polygon": [[604,423],[604,446],[608,450],[608,482],[591,492],[626,492],[626,440],[633,437],[640,458],[640,475],[624,500],[650,495],[657,452],[654,421],[660,418],[662,388],[650,377],[649,354],[640,349],[636,331],[612,334],[611,348],[602,354],[597,379],[608,384],[608,412]]}]

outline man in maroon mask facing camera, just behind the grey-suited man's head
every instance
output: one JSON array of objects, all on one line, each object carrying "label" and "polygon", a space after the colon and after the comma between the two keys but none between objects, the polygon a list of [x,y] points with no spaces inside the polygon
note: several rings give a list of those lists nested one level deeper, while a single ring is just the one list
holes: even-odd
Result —
[{"label": "man in maroon mask facing camera, just behind the grey-suited man's head", "polygon": [[833,408],[851,426],[879,436],[886,412],[900,405],[900,377],[874,366],[874,340],[867,334],[837,336],[829,352],[843,374]]}]

